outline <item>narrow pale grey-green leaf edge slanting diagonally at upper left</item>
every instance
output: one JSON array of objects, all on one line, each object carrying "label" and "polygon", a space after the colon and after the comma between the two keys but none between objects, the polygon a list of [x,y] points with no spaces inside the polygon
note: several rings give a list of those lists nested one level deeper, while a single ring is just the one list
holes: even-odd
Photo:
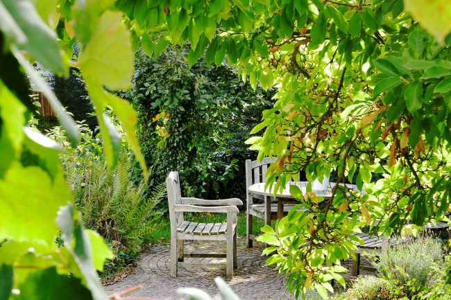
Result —
[{"label": "narrow pale grey-green leaf edge slanting diagonally at upper left", "polygon": [[51,108],[53,109],[53,112],[55,112],[56,116],[58,117],[58,121],[60,121],[60,124],[66,131],[67,137],[69,138],[69,141],[71,141],[71,144],[76,145],[76,143],[78,143],[80,134],[78,133],[78,127],[74,119],[69,114],[67,114],[58,98],[56,98],[55,94],[53,94],[53,91],[51,91],[49,86],[46,85],[46,82],[44,82],[44,80],[42,80],[42,78],[37,75],[35,69],[31,66],[28,60],[26,60],[22,56],[22,54],[19,53],[19,51],[13,51],[13,54],[15,55],[15,58],[17,58],[19,64],[24,67],[27,75],[30,76],[37,89],[42,91],[42,94],[46,96],[51,105]]}]

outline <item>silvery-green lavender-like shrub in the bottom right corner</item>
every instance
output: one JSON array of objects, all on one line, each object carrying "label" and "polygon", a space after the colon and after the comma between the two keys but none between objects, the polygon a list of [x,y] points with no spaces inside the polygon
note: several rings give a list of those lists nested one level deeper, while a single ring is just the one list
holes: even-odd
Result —
[{"label": "silvery-green lavender-like shrub in the bottom right corner", "polygon": [[443,258],[442,246],[441,240],[430,236],[408,238],[382,249],[377,271],[382,278],[398,282],[398,285],[414,280],[416,285],[425,286],[434,263]]}]

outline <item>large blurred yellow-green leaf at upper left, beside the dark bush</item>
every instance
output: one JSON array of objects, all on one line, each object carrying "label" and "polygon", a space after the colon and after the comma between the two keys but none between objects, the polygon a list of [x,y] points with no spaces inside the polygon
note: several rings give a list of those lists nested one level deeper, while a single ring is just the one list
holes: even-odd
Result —
[{"label": "large blurred yellow-green leaf at upper left, beside the dark bush", "polygon": [[112,90],[128,89],[133,76],[130,33],[121,19],[121,12],[104,12],[78,60],[85,78]]}]

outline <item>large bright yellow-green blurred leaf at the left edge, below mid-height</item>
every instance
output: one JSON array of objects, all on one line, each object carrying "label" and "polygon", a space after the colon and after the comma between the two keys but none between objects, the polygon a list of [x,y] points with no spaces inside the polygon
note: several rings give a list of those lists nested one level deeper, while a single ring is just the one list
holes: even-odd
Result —
[{"label": "large bright yellow-green blurred leaf at the left edge, below mid-height", "polygon": [[[58,161],[58,157],[55,159]],[[53,245],[58,209],[71,198],[61,170],[52,182],[42,168],[15,164],[0,180],[0,240]]]}]

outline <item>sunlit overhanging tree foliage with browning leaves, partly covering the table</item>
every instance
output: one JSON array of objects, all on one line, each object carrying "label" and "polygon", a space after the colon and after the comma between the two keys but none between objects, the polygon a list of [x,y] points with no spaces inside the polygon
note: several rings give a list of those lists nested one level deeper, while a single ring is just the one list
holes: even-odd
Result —
[{"label": "sunlit overhanging tree foliage with browning leaves, partly covering the table", "polygon": [[248,141],[260,159],[278,159],[269,185],[282,188],[305,170],[309,180],[334,173],[366,190],[336,185],[324,200],[293,188],[307,211],[262,241],[275,246],[269,263],[289,276],[296,296],[316,288],[325,297],[327,281],[343,282],[339,262],[356,249],[347,237],[362,225],[407,234],[448,213],[451,39],[438,25],[450,17],[447,1],[129,4],[118,1],[149,55],[189,39],[189,65],[205,51],[206,62],[226,58],[252,85],[278,87],[253,130],[264,132]]}]

